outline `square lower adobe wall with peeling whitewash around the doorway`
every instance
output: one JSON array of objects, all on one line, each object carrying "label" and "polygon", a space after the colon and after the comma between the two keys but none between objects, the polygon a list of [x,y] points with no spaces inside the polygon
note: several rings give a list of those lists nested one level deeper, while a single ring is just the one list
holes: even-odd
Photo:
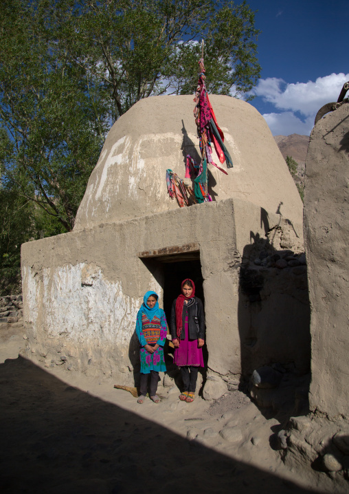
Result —
[{"label": "square lower adobe wall with peeling whitewash around the doorway", "polygon": [[[240,374],[239,317],[241,304],[247,303],[240,295],[240,266],[246,246],[251,245],[251,229],[257,236],[264,235],[260,215],[260,208],[230,199],[23,244],[27,356],[47,366],[113,375],[133,385],[137,310],[150,288],[159,293],[161,305],[164,281],[161,273],[148,270],[138,254],[197,244],[204,279],[208,365],[218,374]],[[271,227],[280,221],[276,215],[269,217]],[[273,297],[272,308],[264,312],[269,323],[275,312]],[[299,302],[294,297],[288,297],[288,305],[297,312]],[[278,327],[271,323],[272,332],[269,329],[260,339],[260,361],[280,361],[280,357],[299,361],[307,333],[302,314],[300,323],[300,337],[291,340],[289,327],[282,321]]]}]

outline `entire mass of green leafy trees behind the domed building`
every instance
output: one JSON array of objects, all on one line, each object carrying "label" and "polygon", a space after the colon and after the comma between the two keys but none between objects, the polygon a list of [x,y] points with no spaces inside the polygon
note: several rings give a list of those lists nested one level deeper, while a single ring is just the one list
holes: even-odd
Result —
[{"label": "entire mass of green leafy trees behind the domed building", "polygon": [[[3,0],[1,181],[71,230],[113,121],[142,98],[256,83],[254,12],[223,0]],[[32,211],[36,211],[33,208]]]}]

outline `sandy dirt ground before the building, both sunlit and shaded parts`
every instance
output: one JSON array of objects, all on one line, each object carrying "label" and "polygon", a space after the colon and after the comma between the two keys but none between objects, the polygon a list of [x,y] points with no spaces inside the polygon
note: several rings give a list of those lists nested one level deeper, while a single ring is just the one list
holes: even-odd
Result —
[{"label": "sandy dirt ground before the building, both sunlit and shaded parts", "polygon": [[280,422],[240,391],[188,404],[159,387],[158,405],[139,405],[112,382],[38,367],[23,343],[0,328],[3,494],[324,492],[286,469],[269,443]]}]

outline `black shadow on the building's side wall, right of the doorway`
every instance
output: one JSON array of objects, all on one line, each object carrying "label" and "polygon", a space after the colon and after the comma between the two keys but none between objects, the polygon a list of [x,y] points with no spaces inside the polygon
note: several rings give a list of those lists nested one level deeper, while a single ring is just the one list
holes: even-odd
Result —
[{"label": "black shadow on the building's side wall, right of the doorway", "polygon": [[238,302],[241,369],[245,389],[249,381],[257,405],[300,415],[308,411],[311,363],[306,259],[291,248],[297,233],[282,218],[280,206],[280,222],[273,228],[261,209],[265,237],[251,232],[251,243],[243,250]]}]

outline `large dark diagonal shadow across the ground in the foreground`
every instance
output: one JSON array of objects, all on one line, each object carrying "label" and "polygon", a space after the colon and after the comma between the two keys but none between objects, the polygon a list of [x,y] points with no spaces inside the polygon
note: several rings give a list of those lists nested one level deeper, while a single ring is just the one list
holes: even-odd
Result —
[{"label": "large dark diagonal shadow across the ground in the foreground", "polygon": [[[311,493],[71,387],[23,358],[1,364],[0,379],[3,494]],[[166,411],[166,402],[154,406]]]}]

